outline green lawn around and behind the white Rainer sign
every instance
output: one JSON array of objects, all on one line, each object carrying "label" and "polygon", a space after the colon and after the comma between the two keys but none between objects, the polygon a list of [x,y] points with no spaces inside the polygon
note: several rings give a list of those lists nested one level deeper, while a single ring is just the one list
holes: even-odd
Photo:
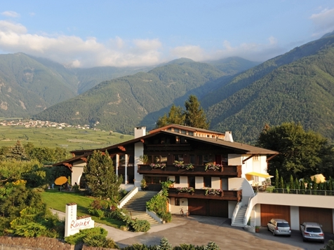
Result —
[{"label": "green lawn around and behind the white Rainer sign", "polygon": [[[48,189],[44,193],[42,193],[42,198],[46,205],[58,211],[62,211],[65,213],[65,207],[68,203],[76,203],[76,215],[84,216],[88,214],[88,206],[95,200],[92,197],[87,197],[83,195],[83,193],[74,193],[58,190],[58,186],[55,186],[55,189]],[[121,225],[125,225],[123,221],[117,221],[113,218],[98,218],[92,216],[93,221],[102,223],[105,225],[109,225],[113,228],[120,228]]]}]

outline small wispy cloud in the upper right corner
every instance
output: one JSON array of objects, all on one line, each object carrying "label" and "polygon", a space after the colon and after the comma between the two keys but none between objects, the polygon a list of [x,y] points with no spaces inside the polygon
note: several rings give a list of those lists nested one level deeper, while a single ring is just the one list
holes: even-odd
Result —
[{"label": "small wispy cloud in the upper right corner", "polygon": [[334,30],[334,8],[323,9],[320,13],[311,15],[310,19],[314,22],[316,32],[314,36],[333,32]]}]

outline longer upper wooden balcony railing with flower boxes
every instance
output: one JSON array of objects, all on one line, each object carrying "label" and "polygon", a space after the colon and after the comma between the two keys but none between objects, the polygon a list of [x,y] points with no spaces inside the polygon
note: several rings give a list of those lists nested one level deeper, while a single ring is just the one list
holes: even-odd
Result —
[{"label": "longer upper wooden balcony railing with flower boxes", "polygon": [[226,176],[241,177],[241,165],[223,166],[219,170],[205,170],[203,165],[194,165],[194,169],[180,169],[174,165],[167,165],[164,169],[152,169],[149,165],[138,165],[139,174],[166,174],[187,176]]}]

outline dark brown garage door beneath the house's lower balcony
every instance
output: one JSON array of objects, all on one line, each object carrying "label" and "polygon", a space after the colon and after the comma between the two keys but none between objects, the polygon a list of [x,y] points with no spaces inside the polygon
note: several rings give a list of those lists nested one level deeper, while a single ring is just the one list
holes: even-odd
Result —
[{"label": "dark brown garage door beneath the house's lower balcony", "polygon": [[188,199],[190,214],[215,217],[228,217],[228,202],[226,200]]}]

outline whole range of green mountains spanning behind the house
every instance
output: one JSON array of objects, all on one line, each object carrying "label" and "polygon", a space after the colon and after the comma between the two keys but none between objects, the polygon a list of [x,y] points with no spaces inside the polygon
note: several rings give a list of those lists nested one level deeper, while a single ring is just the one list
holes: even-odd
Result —
[{"label": "whole range of green mountains spanning behind the house", "polygon": [[131,133],[154,127],[196,95],[211,130],[253,143],[266,124],[302,123],[334,139],[334,33],[266,62],[187,58],[152,68],[68,69],[23,53],[0,55],[0,115],[91,124]]}]

